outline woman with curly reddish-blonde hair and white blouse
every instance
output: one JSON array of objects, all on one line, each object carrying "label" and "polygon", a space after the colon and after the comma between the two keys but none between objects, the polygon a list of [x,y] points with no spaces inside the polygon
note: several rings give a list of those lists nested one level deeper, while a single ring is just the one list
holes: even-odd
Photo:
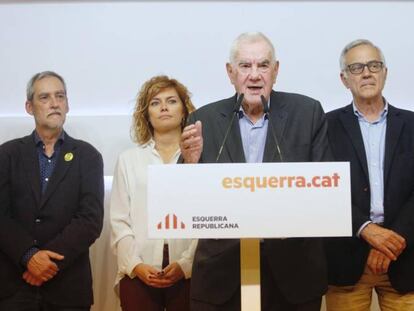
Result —
[{"label": "woman with curly reddish-blonde hair and white blouse", "polygon": [[193,110],[187,88],[166,76],[148,80],[138,94],[132,126],[137,146],[118,158],[110,202],[123,311],[189,310],[197,242],[149,240],[146,194],[148,165],[177,162],[181,132]]}]

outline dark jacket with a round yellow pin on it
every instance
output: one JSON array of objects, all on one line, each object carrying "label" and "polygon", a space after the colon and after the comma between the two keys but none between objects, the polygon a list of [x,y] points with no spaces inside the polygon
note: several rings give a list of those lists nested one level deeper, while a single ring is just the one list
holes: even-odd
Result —
[{"label": "dark jacket with a round yellow pin on it", "polygon": [[24,284],[22,256],[37,245],[65,256],[56,262],[58,274],[40,287],[44,299],[90,306],[89,246],[102,230],[103,196],[102,157],[86,142],[65,134],[43,195],[33,134],[0,146],[0,299]]}]

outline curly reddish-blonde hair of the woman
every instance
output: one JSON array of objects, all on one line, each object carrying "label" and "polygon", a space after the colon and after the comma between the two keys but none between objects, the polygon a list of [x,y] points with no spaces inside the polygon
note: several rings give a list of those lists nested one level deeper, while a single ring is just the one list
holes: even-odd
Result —
[{"label": "curly reddish-blonde hair of the woman", "polygon": [[183,102],[184,118],[181,128],[184,128],[188,115],[195,110],[190,99],[191,93],[179,81],[167,76],[155,76],[146,81],[137,96],[131,127],[132,138],[140,145],[147,143],[154,134],[148,115],[149,103],[154,96],[167,88],[174,88]]}]

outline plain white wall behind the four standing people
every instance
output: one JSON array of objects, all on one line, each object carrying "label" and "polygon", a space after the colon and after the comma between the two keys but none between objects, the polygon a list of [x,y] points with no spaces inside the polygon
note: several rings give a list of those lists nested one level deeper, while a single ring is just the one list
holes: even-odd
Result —
[{"label": "plain white wall behind the four standing people", "polygon": [[[327,111],[351,100],[339,80],[342,47],[370,39],[387,59],[385,96],[412,109],[413,14],[410,1],[0,0],[0,144],[32,131],[26,82],[35,72],[55,70],[68,84],[68,133],[95,145],[111,175],[117,154],[132,146],[130,115],[141,84],[156,74],[176,77],[197,107],[228,97],[231,41],[251,30],[276,46],[275,88],[315,97]],[[102,287],[116,265],[108,238],[106,222],[92,251],[99,311],[117,304],[112,284]]]}]

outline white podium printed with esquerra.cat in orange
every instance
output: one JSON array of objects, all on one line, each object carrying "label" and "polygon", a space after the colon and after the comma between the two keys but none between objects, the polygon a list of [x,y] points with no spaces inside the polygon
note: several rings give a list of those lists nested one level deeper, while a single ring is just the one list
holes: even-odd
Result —
[{"label": "white podium printed with esquerra.cat in orange", "polygon": [[348,162],[152,165],[148,236],[241,239],[242,310],[260,311],[260,239],[352,236],[349,171]]}]

